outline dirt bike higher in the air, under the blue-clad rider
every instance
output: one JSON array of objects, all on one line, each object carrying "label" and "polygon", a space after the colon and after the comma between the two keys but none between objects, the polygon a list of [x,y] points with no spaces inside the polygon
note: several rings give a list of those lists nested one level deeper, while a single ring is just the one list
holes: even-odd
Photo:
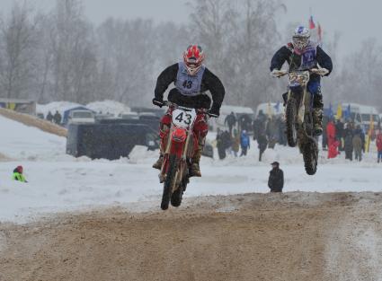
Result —
[{"label": "dirt bike higher in the air, under the blue-clad rider", "polygon": [[[281,70],[278,74],[279,77],[289,74],[289,91],[285,110],[288,145],[291,147],[298,145],[303,154],[308,175],[315,174],[318,163],[318,144],[313,119],[314,96],[306,89],[311,72],[314,71]],[[319,69],[315,73],[319,74]]]}]

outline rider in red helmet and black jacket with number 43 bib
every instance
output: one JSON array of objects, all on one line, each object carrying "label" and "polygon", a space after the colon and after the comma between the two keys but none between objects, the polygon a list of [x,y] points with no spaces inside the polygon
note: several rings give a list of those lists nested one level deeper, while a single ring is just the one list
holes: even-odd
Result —
[{"label": "rider in red helmet and black jacket with number 43 bib", "polygon": [[[206,109],[210,117],[218,118],[221,103],[223,102],[225,89],[218,77],[203,65],[205,54],[198,45],[189,46],[183,53],[183,60],[172,66],[168,66],[158,76],[155,87],[156,106],[164,106],[164,92],[171,83],[174,88],[168,94],[168,101],[179,106]],[[206,92],[209,91],[211,100]],[[153,165],[155,169],[161,169],[167,136],[171,126],[172,109],[170,108],[161,119],[160,136],[161,147],[159,159]],[[192,158],[191,175],[200,177],[200,156],[203,151],[209,125],[204,114],[198,114],[193,131],[198,138],[198,149]]]}]

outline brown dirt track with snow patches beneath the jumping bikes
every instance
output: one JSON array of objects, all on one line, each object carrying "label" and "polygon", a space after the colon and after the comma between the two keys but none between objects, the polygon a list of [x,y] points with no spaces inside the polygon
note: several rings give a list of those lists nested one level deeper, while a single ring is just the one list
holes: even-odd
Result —
[{"label": "brown dirt track with snow patches beneath the jumping bikes", "polygon": [[0,224],[0,280],[381,280],[382,195],[193,198]]}]

